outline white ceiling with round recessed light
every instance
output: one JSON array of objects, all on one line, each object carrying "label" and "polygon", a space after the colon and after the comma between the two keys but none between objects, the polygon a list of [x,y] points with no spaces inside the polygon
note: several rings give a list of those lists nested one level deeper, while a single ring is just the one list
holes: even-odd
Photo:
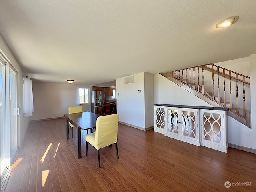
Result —
[{"label": "white ceiling with round recessed light", "polygon": [[[256,1],[0,1],[0,32],[26,75],[100,84],[256,53]],[[216,24],[240,19],[228,28]]]}]

